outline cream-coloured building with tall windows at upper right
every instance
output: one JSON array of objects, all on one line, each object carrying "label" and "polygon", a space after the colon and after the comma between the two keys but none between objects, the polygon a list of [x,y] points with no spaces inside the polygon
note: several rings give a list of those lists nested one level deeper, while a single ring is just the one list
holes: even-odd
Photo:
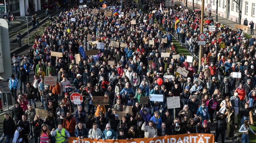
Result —
[{"label": "cream-coloured building with tall windows at upper right", "polygon": [[[182,0],[179,0],[182,1]],[[183,0],[185,5],[185,0]],[[187,0],[188,5],[192,5],[192,0]],[[202,0],[194,0],[195,8],[201,9]],[[216,0],[205,0],[205,10],[207,10],[207,4],[211,4],[211,12],[212,16],[216,14]],[[255,14],[255,6],[256,1],[253,0],[243,0],[242,1],[242,17],[241,24],[243,25],[243,21],[245,18],[248,20],[248,27],[250,27],[250,21],[256,23],[256,14]],[[208,10],[207,10],[208,11]],[[238,5],[234,2],[234,0],[218,0],[218,16],[223,18],[227,18],[234,22],[238,22]],[[254,29],[255,29],[254,25]]]}]

